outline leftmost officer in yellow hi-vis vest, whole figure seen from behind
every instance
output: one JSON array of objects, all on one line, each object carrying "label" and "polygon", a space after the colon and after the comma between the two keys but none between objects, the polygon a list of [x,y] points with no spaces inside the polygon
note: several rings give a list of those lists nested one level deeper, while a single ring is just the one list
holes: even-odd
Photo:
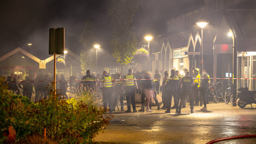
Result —
[{"label": "leftmost officer in yellow hi-vis vest, whole figure seen from behind", "polygon": [[[100,80],[100,88],[102,89],[102,96],[103,96],[103,105],[104,108],[107,109],[107,101],[109,107],[109,113],[112,113],[112,91],[116,85],[116,81],[112,81],[113,79],[108,76],[108,72],[105,70],[103,71],[103,77]],[[112,85],[113,83],[113,85]]]}]

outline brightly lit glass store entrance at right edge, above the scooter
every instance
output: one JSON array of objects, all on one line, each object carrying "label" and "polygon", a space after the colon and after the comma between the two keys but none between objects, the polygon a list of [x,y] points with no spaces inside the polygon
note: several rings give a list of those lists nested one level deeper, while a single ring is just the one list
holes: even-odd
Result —
[{"label": "brightly lit glass store entrance at right edge, above the scooter", "polygon": [[[237,88],[248,87],[256,90],[256,52],[240,52],[237,54]],[[249,78],[249,79],[246,79]]]}]

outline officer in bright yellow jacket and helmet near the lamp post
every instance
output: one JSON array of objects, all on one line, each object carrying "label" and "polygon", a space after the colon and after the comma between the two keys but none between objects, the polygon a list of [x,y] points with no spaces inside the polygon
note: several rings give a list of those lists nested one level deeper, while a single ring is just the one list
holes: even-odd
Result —
[{"label": "officer in bright yellow jacket and helmet near the lamp post", "polygon": [[195,68],[193,72],[195,74],[195,79],[194,79],[195,86],[193,88],[194,97],[195,97],[195,105],[194,106],[199,106],[198,103],[199,103],[199,88],[200,88],[200,82],[201,82],[201,75],[199,74],[199,72],[200,72],[199,68]]}]

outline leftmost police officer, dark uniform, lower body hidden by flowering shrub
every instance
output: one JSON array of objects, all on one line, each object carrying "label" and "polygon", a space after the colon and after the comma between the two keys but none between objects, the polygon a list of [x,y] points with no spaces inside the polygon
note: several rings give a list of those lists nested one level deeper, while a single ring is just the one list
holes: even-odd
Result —
[{"label": "leftmost police officer, dark uniform, lower body hidden by flowering shrub", "polygon": [[94,92],[97,90],[97,81],[94,76],[91,76],[91,70],[86,71],[86,76],[81,79],[80,87],[83,86],[83,91]]}]

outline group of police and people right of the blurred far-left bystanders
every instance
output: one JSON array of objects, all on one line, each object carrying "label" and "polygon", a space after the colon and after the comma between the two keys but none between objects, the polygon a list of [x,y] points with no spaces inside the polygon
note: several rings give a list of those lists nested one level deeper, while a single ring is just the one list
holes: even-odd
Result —
[{"label": "group of police and people right of the blurred far-left bystanders", "polygon": [[[181,76],[178,70],[171,70],[171,76],[168,71],[164,71],[164,78],[159,87],[161,75],[156,70],[156,74],[152,77],[151,73],[142,71],[133,74],[132,69],[128,69],[128,74],[121,75],[116,73],[109,76],[107,71],[103,71],[102,77],[100,75],[94,77],[91,75],[91,71],[86,71],[86,76],[81,79],[80,85],[83,86],[83,90],[89,90],[95,92],[98,88],[102,92],[103,105],[105,108],[109,108],[109,112],[112,113],[116,110],[116,104],[118,97],[120,99],[121,111],[137,112],[135,104],[135,92],[141,95],[141,109],[139,111],[151,112],[150,101],[154,99],[157,109],[167,109],[165,112],[170,113],[171,109],[176,109],[176,113],[181,112],[181,108],[186,107],[185,99],[188,97],[190,103],[191,113],[193,113],[194,106],[200,105],[204,102],[204,107],[201,110],[207,110],[207,90],[210,86],[209,75],[203,71],[201,82],[201,75],[199,69],[194,68],[193,74],[187,69],[184,69],[185,76]],[[192,78],[193,76],[194,78]],[[113,80],[115,79],[115,80]],[[122,80],[118,80],[122,79]],[[137,80],[146,79],[146,80]],[[163,107],[160,108],[159,102],[156,98],[159,90],[162,91]],[[199,92],[202,92],[202,98]],[[173,107],[171,107],[172,97],[174,101]],[[127,110],[124,110],[124,100],[127,101]],[[146,104],[145,104],[146,99]],[[132,105],[132,107],[131,107]]]}]

